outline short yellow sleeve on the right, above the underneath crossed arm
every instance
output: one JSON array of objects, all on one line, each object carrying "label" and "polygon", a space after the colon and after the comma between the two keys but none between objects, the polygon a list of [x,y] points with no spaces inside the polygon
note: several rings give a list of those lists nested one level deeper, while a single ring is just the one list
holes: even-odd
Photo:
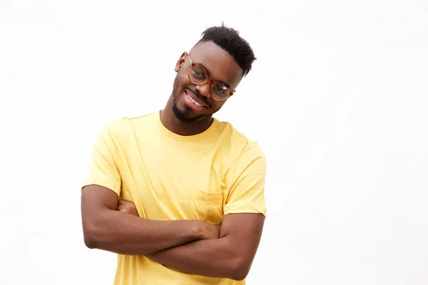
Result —
[{"label": "short yellow sleeve on the right, above the underneath crossed arm", "polygon": [[224,214],[260,213],[266,216],[266,160],[260,146],[251,142],[241,153]]}]

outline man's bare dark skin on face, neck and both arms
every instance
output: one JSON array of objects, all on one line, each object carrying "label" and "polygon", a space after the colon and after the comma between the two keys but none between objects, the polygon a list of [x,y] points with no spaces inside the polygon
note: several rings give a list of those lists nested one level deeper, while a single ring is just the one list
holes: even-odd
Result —
[{"label": "man's bare dark skin on face, neck and both arms", "polygon": [[[234,90],[243,71],[230,54],[212,42],[190,51],[210,78]],[[173,93],[161,111],[165,128],[178,135],[195,135],[209,128],[213,114],[225,104],[210,96],[210,81],[196,86],[188,78],[187,53],[178,59]],[[203,108],[196,108],[190,95]],[[178,115],[177,115],[178,114]],[[83,234],[90,248],[118,254],[141,254],[179,271],[203,276],[245,279],[258,249],[263,214],[227,214],[220,227],[203,221],[153,221],[138,217],[132,202],[119,201],[115,192],[98,185],[83,187]]]}]

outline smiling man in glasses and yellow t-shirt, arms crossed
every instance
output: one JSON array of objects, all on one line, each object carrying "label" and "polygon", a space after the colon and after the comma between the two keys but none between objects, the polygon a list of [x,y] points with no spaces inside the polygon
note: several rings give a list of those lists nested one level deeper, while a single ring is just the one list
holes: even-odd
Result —
[{"label": "smiling man in glasses and yellow t-shirt, arms crossed", "polygon": [[237,31],[208,28],[178,59],[163,110],[98,134],[83,234],[118,254],[115,284],[245,284],[266,214],[265,157],[213,114],[254,60]]}]

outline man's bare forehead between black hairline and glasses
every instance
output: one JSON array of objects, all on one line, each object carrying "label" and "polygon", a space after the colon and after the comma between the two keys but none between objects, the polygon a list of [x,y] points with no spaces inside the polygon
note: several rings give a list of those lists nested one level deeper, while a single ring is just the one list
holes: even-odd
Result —
[{"label": "man's bare forehead between black hairline and glasses", "polygon": [[242,69],[233,56],[215,43],[198,43],[190,51],[193,62],[201,63],[215,81],[223,81],[234,89],[242,78]]}]

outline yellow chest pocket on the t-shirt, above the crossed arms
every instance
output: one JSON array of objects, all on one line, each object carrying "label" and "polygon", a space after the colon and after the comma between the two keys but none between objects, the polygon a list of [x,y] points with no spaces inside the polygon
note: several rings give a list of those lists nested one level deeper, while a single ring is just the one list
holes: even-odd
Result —
[{"label": "yellow chest pocket on the t-shirt, above the crossed arms", "polygon": [[223,221],[223,192],[196,190],[193,198],[198,219],[210,224],[221,224]]}]

